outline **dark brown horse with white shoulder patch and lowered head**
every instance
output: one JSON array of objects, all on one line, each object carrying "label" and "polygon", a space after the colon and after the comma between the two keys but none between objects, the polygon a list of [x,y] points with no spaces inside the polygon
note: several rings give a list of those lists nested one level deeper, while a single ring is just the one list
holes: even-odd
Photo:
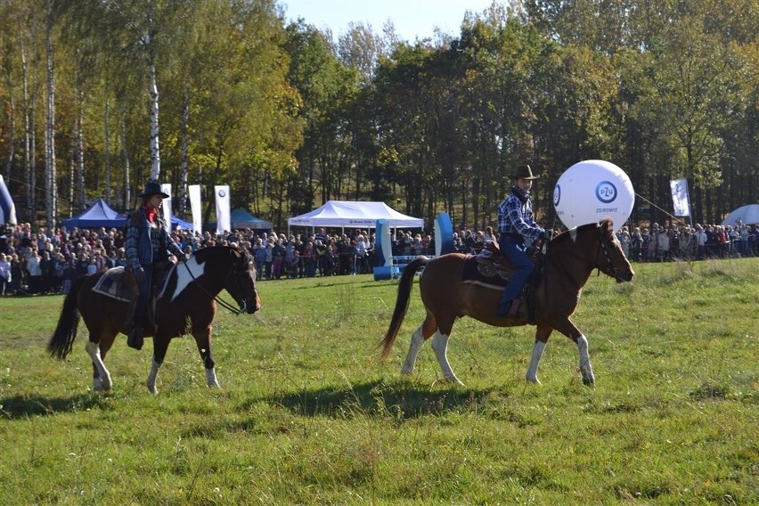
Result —
[{"label": "dark brown horse with white shoulder patch and lowered head", "polygon": [[[111,387],[110,372],[103,361],[118,332],[124,332],[128,302],[95,292],[103,273],[83,276],[73,283],[63,300],[61,317],[47,344],[50,355],[63,359],[77,338],[79,315],[89,331],[87,353],[93,361],[95,390]],[[226,290],[240,306],[237,311],[221,299],[219,303],[236,313],[255,313],[261,306],[256,289],[256,268],[244,249],[223,246],[198,249],[186,262],[175,265],[155,305],[156,331],[145,325],[145,335],[153,337],[153,361],[148,389],[157,394],[156,378],[171,339],[192,332],[206,368],[208,387],[219,387],[211,354],[211,323],[216,314],[216,296]]]}]

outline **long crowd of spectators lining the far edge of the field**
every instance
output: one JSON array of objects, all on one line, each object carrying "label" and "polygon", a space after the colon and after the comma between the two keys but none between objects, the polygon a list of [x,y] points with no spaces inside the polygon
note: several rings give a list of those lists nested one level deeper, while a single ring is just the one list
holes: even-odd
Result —
[{"label": "long crowd of spectators lining the far edge of the field", "polygon": [[[759,257],[759,224],[655,223],[650,231],[634,227],[632,233],[624,226],[616,235],[633,262]],[[248,249],[261,281],[371,273],[376,265],[375,236],[368,230],[285,234],[248,229],[221,235],[176,230],[173,236],[185,252],[214,245]],[[488,241],[497,241],[491,227],[453,234],[454,248],[464,253],[477,253]],[[435,241],[430,233],[396,230],[391,248],[394,257],[431,256]],[[126,265],[126,258],[123,231],[117,228],[35,231],[28,223],[6,225],[0,236],[0,296],[68,293],[79,276],[119,265]]]}]

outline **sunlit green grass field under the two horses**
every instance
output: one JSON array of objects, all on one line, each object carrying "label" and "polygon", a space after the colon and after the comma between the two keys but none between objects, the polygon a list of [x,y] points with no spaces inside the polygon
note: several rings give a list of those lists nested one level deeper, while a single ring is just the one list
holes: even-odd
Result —
[{"label": "sunlit green grass field under the two horses", "polygon": [[151,341],[119,336],[94,393],[85,330],[65,362],[45,354],[62,298],[2,298],[0,504],[759,503],[759,258],[634,266],[593,274],[573,317],[595,388],[563,336],[535,386],[534,328],[471,319],[448,350],[466,387],[428,345],[401,377],[419,291],[380,363],[396,282],[364,275],[261,282],[259,313],[220,309],[221,390],[175,339],[151,396]]}]

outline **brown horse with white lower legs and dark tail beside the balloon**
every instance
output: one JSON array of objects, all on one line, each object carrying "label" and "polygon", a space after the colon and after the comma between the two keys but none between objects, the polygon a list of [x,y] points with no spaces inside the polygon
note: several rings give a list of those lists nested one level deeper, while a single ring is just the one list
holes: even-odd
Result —
[{"label": "brown horse with white lower legs and dark tail beside the balloon", "polygon": [[[588,355],[588,339],[577,329],[570,316],[580,299],[580,291],[594,269],[606,273],[617,282],[633,279],[633,267],[617,241],[612,221],[584,224],[559,234],[547,244],[542,274],[535,279],[535,345],[526,380],[540,383],[538,363],[551,332],[556,330],[575,341],[580,354],[580,371],[585,385],[595,382]],[[432,349],[445,380],[461,384],[446,356],[453,322],[461,316],[471,316],[480,322],[497,327],[526,325],[526,317],[510,320],[497,316],[502,289],[462,281],[465,255],[450,253],[428,259],[417,257],[404,269],[398,286],[398,298],[393,319],[382,339],[382,358],[386,359],[396,340],[409,306],[414,273],[424,266],[419,289],[427,309],[427,317],[412,334],[411,347],[401,372],[411,374],[424,341],[434,334]],[[536,271],[537,273],[537,271]],[[524,302],[523,302],[524,304]]]}]

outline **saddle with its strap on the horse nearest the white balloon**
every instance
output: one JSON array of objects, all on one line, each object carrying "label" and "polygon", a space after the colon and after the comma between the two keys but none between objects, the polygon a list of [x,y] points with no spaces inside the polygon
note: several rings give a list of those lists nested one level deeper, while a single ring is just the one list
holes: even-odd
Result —
[{"label": "saddle with its strap on the horse nearest the white balloon", "polygon": [[[544,262],[543,249],[532,246],[526,251],[527,257],[535,262],[535,270],[525,283],[519,298],[526,304],[527,322],[535,324],[535,284],[543,276]],[[494,290],[503,290],[514,273],[514,265],[508,257],[503,255],[498,244],[490,241],[477,255],[468,256],[464,260],[464,269],[461,273],[463,282],[476,283]]]}]

